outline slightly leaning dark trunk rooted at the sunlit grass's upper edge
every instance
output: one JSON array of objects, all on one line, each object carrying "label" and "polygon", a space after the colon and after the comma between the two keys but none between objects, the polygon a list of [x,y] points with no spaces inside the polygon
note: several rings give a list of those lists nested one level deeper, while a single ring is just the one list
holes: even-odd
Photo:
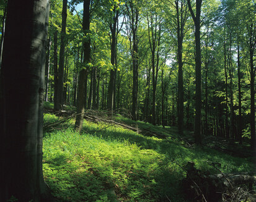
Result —
[{"label": "slightly leaning dark trunk rooted at the sunlit grass's upper edge", "polygon": [[[90,30],[90,0],[84,0],[84,14],[82,18],[82,30],[84,32],[84,36],[89,33]],[[88,64],[90,62],[90,38],[84,39],[83,42],[84,49],[84,64]],[[84,107],[86,106],[86,88],[87,88],[87,75],[88,75],[88,67],[86,69],[82,69],[79,72],[79,80],[78,80],[78,89],[77,89],[77,108],[76,112],[76,124],[75,128],[77,131],[81,132],[82,123],[84,122]]]}]

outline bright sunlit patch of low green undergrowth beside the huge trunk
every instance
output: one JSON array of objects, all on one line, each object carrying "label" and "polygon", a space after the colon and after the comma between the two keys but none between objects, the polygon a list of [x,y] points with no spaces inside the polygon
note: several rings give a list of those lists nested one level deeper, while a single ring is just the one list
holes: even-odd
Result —
[{"label": "bright sunlit patch of low green undergrowth beside the huge trunk", "polygon": [[73,130],[46,135],[43,153],[45,180],[61,201],[156,201],[173,177],[157,151]]}]

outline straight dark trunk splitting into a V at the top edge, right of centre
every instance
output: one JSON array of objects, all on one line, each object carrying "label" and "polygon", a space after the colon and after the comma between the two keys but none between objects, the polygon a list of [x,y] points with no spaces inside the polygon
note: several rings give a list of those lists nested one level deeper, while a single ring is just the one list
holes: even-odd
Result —
[{"label": "straight dark trunk splitting into a V at the top edge, right of centre", "polygon": [[200,14],[203,0],[196,0],[196,15],[194,14],[190,0],[188,8],[195,23],[195,143],[201,143],[201,44],[200,44]]}]

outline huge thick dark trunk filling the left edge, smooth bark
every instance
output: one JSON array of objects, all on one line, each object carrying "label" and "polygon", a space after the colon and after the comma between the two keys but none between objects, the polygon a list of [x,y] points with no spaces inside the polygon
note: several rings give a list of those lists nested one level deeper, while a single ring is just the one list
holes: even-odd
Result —
[{"label": "huge thick dark trunk filling the left edge, smooth bark", "polygon": [[11,196],[20,202],[50,201],[42,172],[49,6],[48,0],[8,1],[1,72],[0,201]]}]

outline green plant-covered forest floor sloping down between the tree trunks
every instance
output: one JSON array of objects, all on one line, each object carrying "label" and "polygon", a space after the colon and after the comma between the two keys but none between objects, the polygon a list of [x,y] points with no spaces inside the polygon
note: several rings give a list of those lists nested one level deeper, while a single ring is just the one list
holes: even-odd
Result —
[{"label": "green plant-covered forest floor sloping down between the tree trunks", "polygon": [[192,132],[97,111],[79,135],[73,114],[45,103],[43,174],[58,201],[196,201],[182,188],[188,162],[205,174],[255,171],[246,144],[204,137],[196,147]]}]

